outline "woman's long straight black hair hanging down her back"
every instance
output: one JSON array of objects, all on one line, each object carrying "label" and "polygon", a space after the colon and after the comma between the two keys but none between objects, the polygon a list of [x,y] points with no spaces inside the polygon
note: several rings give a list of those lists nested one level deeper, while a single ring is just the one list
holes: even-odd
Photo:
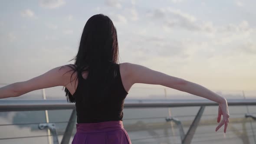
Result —
[{"label": "woman's long straight black hair hanging down her back", "polygon": [[[70,60],[75,60],[74,67],[67,66],[72,68],[72,75],[75,72],[82,74],[82,72],[88,71],[89,74],[86,78],[90,87],[88,90],[94,90],[92,93],[96,95],[95,90],[107,85],[103,80],[107,81],[106,73],[111,64],[119,63],[118,56],[117,32],[112,20],[103,14],[96,14],[86,22],[77,55]],[[78,75],[75,82],[77,79]],[[63,88],[65,88],[67,101],[75,102],[75,97],[66,87]]]}]

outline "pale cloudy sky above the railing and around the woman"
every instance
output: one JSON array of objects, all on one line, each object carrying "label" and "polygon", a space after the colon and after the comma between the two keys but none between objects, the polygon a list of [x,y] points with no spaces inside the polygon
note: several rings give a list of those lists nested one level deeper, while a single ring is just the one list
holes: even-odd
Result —
[{"label": "pale cloudy sky above the railing and around the woman", "polygon": [[216,91],[256,90],[255,5],[255,0],[1,0],[0,83],[26,81],[73,63],[86,21],[103,13],[117,29],[120,63]]}]

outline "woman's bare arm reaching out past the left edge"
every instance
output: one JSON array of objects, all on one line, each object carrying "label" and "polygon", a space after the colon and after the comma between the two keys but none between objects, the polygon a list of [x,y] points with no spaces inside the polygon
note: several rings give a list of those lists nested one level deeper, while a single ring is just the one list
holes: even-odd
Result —
[{"label": "woman's bare arm reaching out past the left edge", "polygon": [[38,89],[65,86],[67,84],[66,77],[68,72],[66,67],[60,68],[61,66],[56,67],[43,75],[39,75],[24,82],[15,82],[4,86],[0,88],[0,98],[18,97]]}]

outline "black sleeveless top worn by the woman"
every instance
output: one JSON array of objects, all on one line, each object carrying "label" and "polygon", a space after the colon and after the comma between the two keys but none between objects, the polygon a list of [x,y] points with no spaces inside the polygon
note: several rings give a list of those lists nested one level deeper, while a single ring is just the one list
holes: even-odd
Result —
[{"label": "black sleeveless top worn by the woman", "polygon": [[[115,77],[104,93],[104,97],[100,102],[87,98],[83,100],[87,79],[78,73],[78,85],[73,96],[75,97],[75,108],[77,115],[77,123],[96,123],[103,121],[122,121],[124,101],[128,92],[121,81],[119,64],[115,64],[112,72]],[[100,89],[98,89],[100,91]],[[87,93],[93,98],[93,93]]]}]

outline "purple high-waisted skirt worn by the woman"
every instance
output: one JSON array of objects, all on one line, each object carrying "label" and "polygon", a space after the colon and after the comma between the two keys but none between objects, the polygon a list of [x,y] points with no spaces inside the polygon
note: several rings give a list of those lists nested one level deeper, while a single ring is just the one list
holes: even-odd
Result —
[{"label": "purple high-waisted skirt worn by the woman", "polygon": [[122,121],[76,124],[72,144],[131,144]]}]

